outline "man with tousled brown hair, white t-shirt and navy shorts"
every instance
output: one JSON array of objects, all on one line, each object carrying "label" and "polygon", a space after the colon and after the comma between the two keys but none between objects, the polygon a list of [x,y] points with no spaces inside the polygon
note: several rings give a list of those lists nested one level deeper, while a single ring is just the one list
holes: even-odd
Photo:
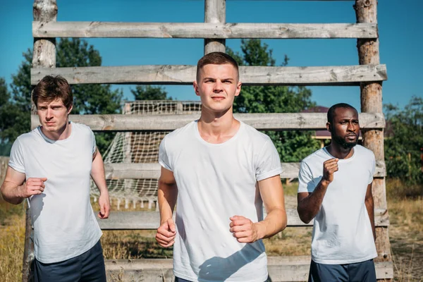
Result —
[{"label": "man with tousled brown hair, white t-shirt and navy shorts", "polygon": [[64,78],[44,77],[32,100],[41,126],[13,143],[1,194],[30,204],[35,281],[106,281],[90,176],[100,191],[101,219],[109,216],[109,192],[94,133],[69,122],[73,95]]}]

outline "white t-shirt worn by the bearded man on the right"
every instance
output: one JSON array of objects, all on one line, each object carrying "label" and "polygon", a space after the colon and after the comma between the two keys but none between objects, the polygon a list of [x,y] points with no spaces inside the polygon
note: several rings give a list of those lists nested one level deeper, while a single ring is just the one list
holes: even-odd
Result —
[{"label": "white t-shirt worn by the bearded man on the right", "polygon": [[[377,257],[364,199],[372,183],[374,154],[360,145],[353,156],[339,159],[323,202],[314,218],[312,259],[319,264],[352,264]],[[334,157],[326,148],[302,160],[298,192],[313,192],[323,174],[323,163]]]}]

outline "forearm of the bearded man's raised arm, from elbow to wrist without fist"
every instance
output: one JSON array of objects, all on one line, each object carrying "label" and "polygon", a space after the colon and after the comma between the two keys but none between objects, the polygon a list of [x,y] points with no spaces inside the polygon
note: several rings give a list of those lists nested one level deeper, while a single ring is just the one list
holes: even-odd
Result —
[{"label": "forearm of the bearded man's raised arm, from elbow to wrist without fist", "polygon": [[298,202],[298,215],[303,222],[309,223],[317,215],[328,186],[329,183],[326,180],[320,180],[317,188],[310,195]]}]

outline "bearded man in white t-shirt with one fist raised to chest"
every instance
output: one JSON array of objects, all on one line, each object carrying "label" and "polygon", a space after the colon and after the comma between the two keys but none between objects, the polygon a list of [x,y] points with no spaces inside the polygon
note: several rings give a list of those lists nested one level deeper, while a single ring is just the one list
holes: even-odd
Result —
[{"label": "bearded man in white t-shirt with one fist raised to chest", "polygon": [[336,104],[326,128],[332,142],[302,160],[298,214],[314,219],[309,281],[376,281],[374,154],[357,145],[357,110]]}]

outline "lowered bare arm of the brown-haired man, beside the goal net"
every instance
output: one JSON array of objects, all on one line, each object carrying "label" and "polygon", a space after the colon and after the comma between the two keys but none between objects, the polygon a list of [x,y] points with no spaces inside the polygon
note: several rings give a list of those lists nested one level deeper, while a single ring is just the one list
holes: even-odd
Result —
[{"label": "lowered bare arm of the brown-haired man, beside the goal net", "polygon": [[102,154],[100,154],[97,148],[95,149],[94,154],[92,154],[91,177],[100,192],[99,218],[107,219],[110,214],[109,191],[107,190],[106,185],[106,173],[104,173],[104,163]]}]

